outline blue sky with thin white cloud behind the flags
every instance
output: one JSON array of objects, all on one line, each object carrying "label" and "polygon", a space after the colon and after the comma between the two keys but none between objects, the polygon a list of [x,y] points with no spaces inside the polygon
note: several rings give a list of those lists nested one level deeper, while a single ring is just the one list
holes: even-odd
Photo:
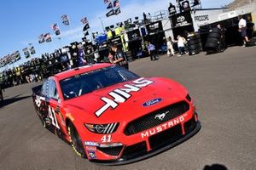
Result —
[{"label": "blue sky with thin white cloud behind the flags", "polygon": [[[61,45],[80,41],[83,35],[80,20],[85,16],[89,20],[90,31],[102,31],[100,17],[104,25],[109,26],[134,16],[142,18],[144,11],[154,14],[161,9],[166,10],[168,4],[174,2],[175,0],[120,0],[122,13],[107,19],[105,14],[108,10],[103,0],[1,0],[0,58],[19,50],[22,58],[20,62],[26,61],[22,49],[28,47],[30,42],[37,51],[33,56],[36,57],[45,52],[51,53],[55,48],[61,48]],[[231,2],[232,0],[201,0],[203,8],[218,8]],[[62,25],[62,14],[68,14],[71,26]],[[53,37],[53,42],[38,44],[40,34],[54,33],[50,25],[55,22],[61,28],[61,42]]]}]

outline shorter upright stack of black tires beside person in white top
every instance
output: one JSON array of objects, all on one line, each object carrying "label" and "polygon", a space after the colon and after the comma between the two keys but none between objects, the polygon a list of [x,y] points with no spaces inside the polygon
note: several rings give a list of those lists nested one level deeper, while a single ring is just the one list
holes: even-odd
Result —
[{"label": "shorter upright stack of black tires beside person in white top", "polygon": [[189,55],[199,54],[202,51],[201,37],[199,34],[188,37]]}]

